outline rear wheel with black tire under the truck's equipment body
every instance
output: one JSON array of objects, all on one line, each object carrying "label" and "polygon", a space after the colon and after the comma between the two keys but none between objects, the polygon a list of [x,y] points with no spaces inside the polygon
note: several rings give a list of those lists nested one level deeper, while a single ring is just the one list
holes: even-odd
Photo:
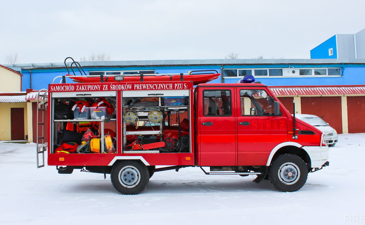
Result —
[{"label": "rear wheel with black tire under the truck's equipment body", "polygon": [[141,193],[148,185],[149,177],[147,167],[137,161],[120,161],[113,166],[110,174],[112,185],[120,194]]}]

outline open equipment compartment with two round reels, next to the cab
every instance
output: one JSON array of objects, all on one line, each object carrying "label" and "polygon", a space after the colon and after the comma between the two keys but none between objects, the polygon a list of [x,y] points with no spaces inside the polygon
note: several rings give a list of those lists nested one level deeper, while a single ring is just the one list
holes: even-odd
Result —
[{"label": "open equipment compartment with two round reels, next to the cab", "polygon": [[123,153],[191,153],[189,96],[189,90],[122,91]]}]

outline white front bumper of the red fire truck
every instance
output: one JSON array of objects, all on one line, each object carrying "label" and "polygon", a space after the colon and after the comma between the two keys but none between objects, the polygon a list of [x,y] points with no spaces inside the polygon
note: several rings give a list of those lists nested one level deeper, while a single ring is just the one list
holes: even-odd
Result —
[{"label": "white front bumper of the red fire truck", "polygon": [[329,148],[327,146],[303,146],[311,159],[311,168],[320,168],[328,161]]}]

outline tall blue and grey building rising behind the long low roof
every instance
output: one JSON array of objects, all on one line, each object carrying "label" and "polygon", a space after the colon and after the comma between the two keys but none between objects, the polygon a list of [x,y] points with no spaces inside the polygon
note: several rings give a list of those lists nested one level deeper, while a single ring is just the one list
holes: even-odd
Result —
[{"label": "tall blue and grey building rising behind the long low roof", "polygon": [[365,59],[365,29],[330,37],[311,50],[311,59]]}]

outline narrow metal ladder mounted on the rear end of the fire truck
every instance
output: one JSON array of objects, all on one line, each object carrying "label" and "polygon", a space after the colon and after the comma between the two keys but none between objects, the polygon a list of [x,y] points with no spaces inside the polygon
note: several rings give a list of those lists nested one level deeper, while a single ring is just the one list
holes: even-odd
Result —
[{"label": "narrow metal ladder mounted on the rear end of the fire truck", "polygon": [[[48,104],[48,90],[47,89],[41,89],[38,91],[37,94],[37,168],[41,168],[45,166],[45,151],[47,151],[47,142],[45,142],[45,110],[47,108]],[[42,99],[41,102],[39,102],[39,99]],[[42,119],[39,119],[39,115],[41,113]],[[39,126],[42,128],[41,137],[39,137]],[[40,141],[41,140],[41,141]],[[42,164],[39,165],[39,154],[42,154]]]}]

